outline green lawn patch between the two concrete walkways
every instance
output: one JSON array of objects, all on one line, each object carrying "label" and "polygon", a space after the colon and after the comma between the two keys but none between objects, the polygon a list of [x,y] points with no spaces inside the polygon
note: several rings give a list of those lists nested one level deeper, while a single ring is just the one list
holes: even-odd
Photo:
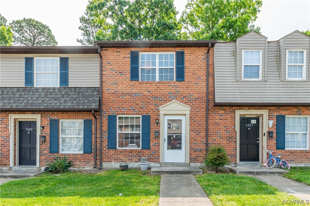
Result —
[{"label": "green lawn patch between the two concrete walkways", "polygon": [[214,205],[283,205],[298,199],[253,177],[235,174],[195,176]]}]

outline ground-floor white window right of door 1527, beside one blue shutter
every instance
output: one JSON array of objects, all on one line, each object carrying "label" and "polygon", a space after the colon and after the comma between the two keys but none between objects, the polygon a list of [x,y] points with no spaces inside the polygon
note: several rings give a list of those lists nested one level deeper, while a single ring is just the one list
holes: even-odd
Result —
[{"label": "ground-floor white window right of door 1527, beside one blue shutter", "polygon": [[309,149],[309,116],[285,116],[285,149]]}]

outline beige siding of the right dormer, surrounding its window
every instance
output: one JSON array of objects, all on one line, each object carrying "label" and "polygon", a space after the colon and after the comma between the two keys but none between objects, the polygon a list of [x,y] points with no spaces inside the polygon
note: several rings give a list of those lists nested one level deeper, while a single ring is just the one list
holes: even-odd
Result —
[{"label": "beige siding of the right dormer, surrounding its window", "polygon": [[289,35],[282,37],[280,53],[281,58],[281,79],[286,80],[286,49],[307,49],[306,52],[306,80],[309,81],[309,50],[310,50],[310,37],[295,31]]}]

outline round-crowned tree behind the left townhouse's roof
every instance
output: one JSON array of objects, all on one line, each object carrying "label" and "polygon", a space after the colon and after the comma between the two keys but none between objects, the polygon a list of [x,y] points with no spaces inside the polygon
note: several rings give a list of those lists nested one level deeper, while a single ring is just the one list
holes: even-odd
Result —
[{"label": "round-crowned tree behind the left townhouse's roof", "polygon": [[13,42],[24,46],[56,46],[51,29],[34,19],[13,20],[10,26],[14,33]]}]

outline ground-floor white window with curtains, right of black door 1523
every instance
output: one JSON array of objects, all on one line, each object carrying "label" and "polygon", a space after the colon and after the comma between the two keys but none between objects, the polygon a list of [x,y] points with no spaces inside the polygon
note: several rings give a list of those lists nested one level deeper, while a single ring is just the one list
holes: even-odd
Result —
[{"label": "ground-floor white window with curtains, right of black door 1523", "polygon": [[83,153],[83,120],[60,120],[60,152]]}]

